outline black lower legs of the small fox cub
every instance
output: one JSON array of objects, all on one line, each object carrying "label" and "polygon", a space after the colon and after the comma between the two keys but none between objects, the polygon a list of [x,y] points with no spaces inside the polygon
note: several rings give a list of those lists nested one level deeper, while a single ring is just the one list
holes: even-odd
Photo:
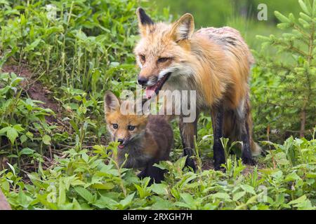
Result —
[{"label": "black lower legs of the small fox cub", "polygon": [[138,177],[143,179],[147,176],[150,177],[149,186],[152,183],[161,183],[164,180],[164,174],[166,173],[165,169],[160,169],[158,167],[154,167],[154,163],[158,163],[157,161],[149,162],[148,165],[143,169],[139,174]]}]

